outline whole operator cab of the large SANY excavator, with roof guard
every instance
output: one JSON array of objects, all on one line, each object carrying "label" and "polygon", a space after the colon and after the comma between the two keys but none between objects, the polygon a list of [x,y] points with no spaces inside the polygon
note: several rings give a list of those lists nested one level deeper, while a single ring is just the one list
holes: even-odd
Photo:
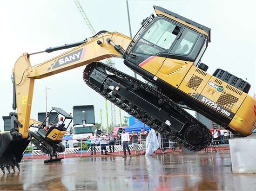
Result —
[{"label": "whole operator cab of the large SANY excavator, with roof guard", "polygon": [[210,42],[210,29],[162,7],[154,8],[157,16],[142,21],[123,57],[124,64],[158,85],[154,77],[166,81],[173,71],[200,64]]}]

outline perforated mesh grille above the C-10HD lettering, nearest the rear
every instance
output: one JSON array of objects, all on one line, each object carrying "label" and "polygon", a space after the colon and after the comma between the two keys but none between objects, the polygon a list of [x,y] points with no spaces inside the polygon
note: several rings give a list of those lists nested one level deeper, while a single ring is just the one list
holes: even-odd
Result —
[{"label": "perforated mesh grille above the C-10HD lettering, nearest the rear", "polygon": [[231,111],[236,105],[237,101],[237,97],[229,94],[226,91],[223,91],[216,103]]}]

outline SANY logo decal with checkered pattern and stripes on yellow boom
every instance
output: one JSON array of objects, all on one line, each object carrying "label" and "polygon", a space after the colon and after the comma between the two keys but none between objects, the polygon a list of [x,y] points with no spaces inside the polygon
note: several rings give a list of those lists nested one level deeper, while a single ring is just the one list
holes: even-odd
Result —
[{"label": "SANY logo decal with checkered pattern and stripes on yellow boom", "polygon": [[86,48],[82,48],[80,50],[67,54],[64,57],[60,57],[59,59],[54,61],[54,64],[51,64],[52,67],[48,68],[48,70],[52,70],[54,68],[58,68],[60,66],[81,60],[84,57],[85,51],[86,51]]}]

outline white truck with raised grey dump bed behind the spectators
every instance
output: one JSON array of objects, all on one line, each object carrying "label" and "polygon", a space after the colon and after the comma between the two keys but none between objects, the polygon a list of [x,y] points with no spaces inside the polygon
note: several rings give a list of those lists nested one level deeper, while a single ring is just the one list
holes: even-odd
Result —
[{"label": "white truck with raised grey dump bed behind the spectators", "polygon": [[73,119],[73,145],[77,147],[96,132],[94,105],[73,106]]}]

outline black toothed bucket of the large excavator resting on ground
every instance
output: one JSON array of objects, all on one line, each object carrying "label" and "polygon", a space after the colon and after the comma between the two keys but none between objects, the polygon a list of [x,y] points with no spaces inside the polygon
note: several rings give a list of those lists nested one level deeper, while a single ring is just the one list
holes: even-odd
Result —
[{"label": "black toothed bucket of the large excavator resting on ground", "polygon": [[16,134],[10,132],[0,133],[0,168],[5,173],[5,168],[15,172],[15,166],[20,171],[20,161],[30,139],[17,139]]}]

